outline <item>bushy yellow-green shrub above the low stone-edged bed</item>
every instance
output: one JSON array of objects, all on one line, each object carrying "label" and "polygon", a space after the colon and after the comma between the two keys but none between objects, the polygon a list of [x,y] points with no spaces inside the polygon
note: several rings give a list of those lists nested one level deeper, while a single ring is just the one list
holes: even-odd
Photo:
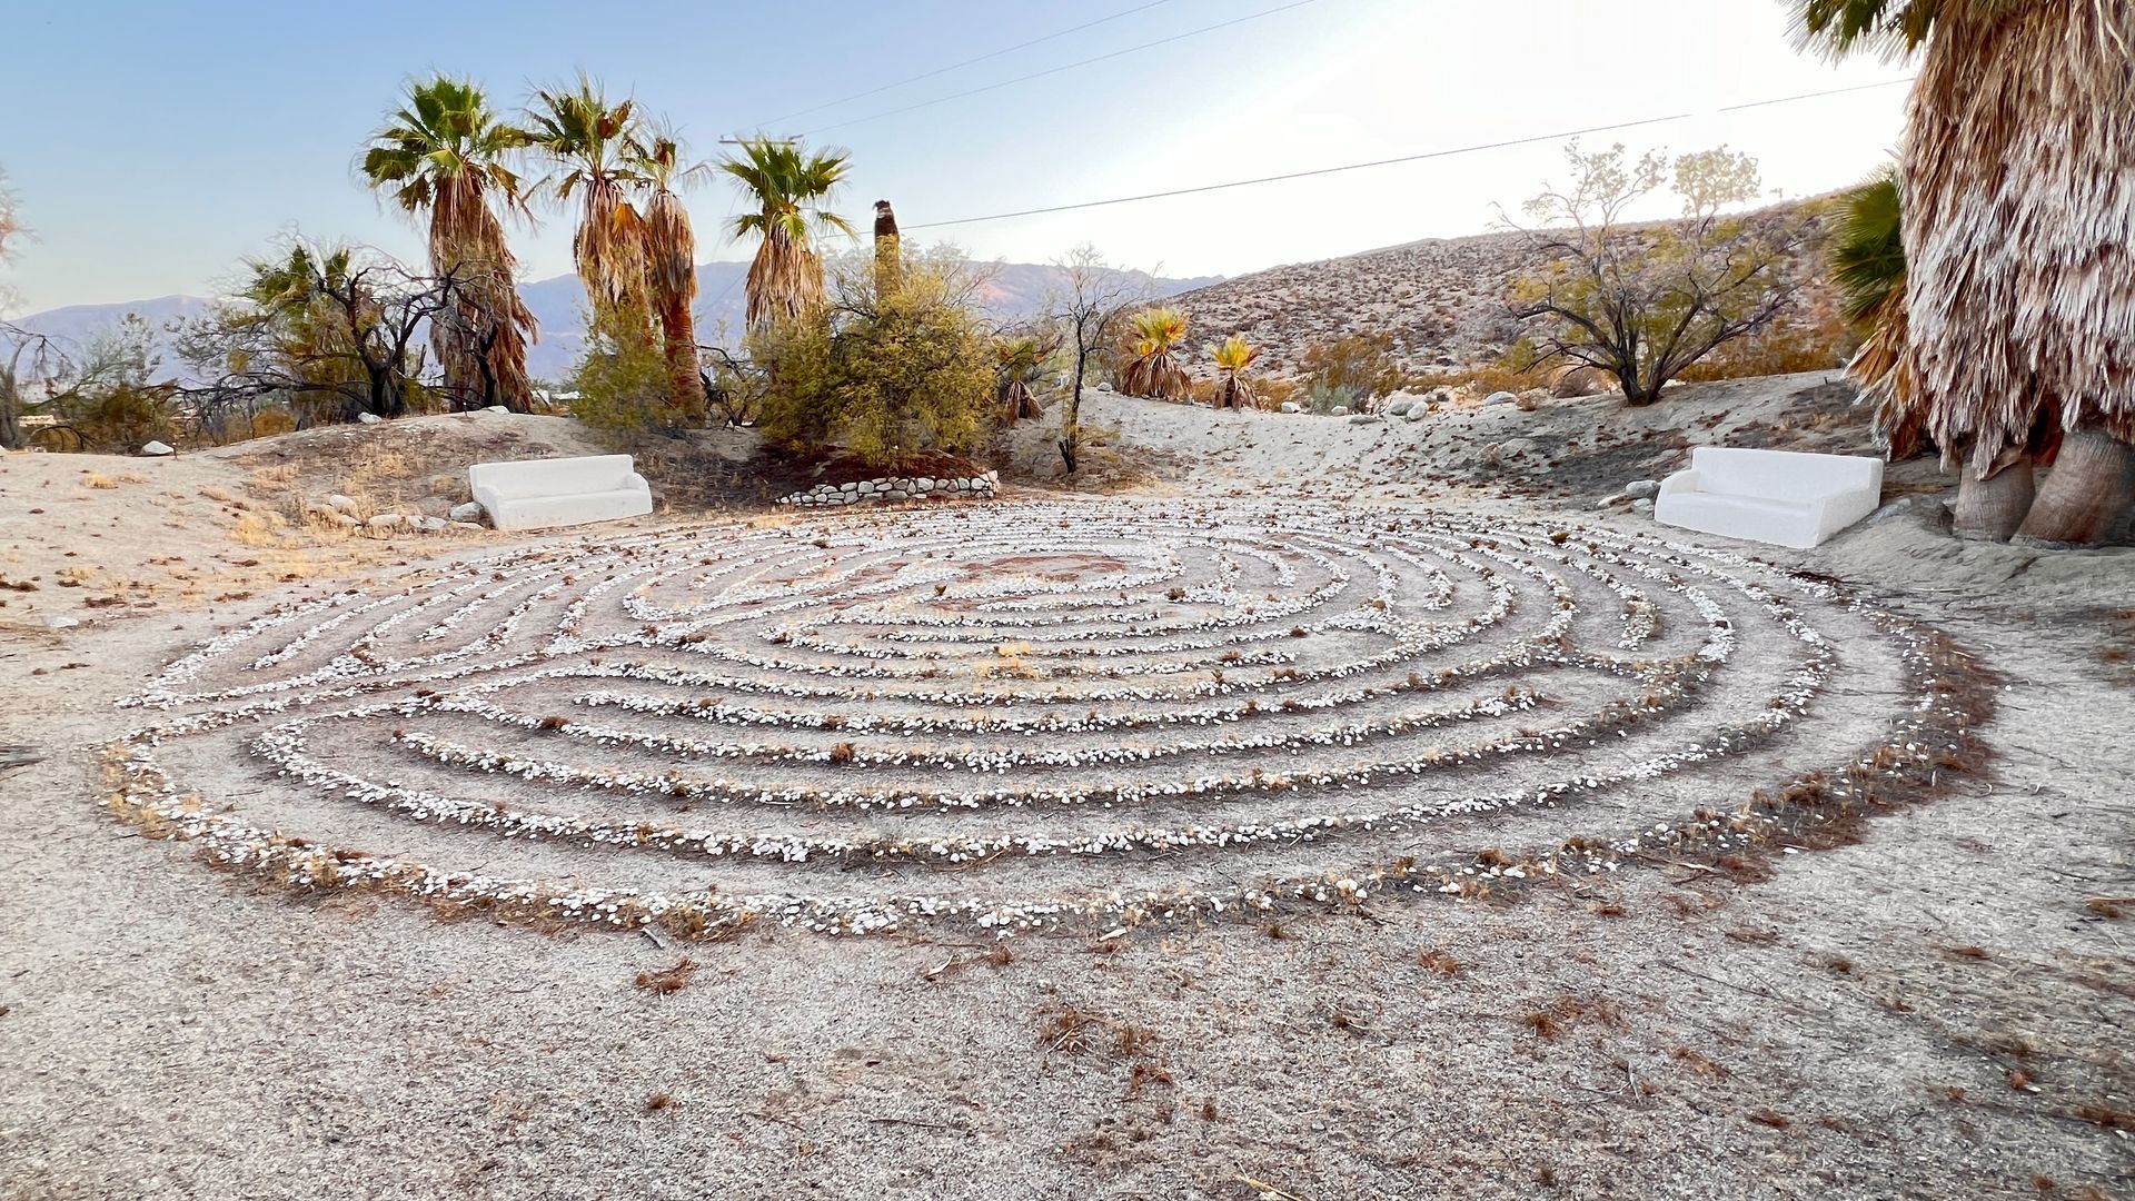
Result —
[{"label": "bushy yellow-green shrub above the low stone-edged bed", "polygon": [[890,288],[871,256],[831,276],[822,312],[749,342],[766,370],[764,434],[796,447],[839,442],[867,462],[976,444],[997,372],[963,261],[907,256]]}]

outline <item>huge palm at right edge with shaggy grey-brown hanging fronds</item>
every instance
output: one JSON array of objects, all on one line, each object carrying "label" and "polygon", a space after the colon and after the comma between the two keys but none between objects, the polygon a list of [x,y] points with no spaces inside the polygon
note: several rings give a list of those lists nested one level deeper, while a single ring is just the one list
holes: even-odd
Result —
[{"label": "huge palm at right edge with shaggy grey-brown hanging fronds", "polygon": [[[1962,455],[1958,532],[2094,543],[2135,474],[2135,9],[1793,0],[1808,45],[1921,53],[1892,370]],[[2030,498],[2033,462],[2054,470]],[[2020,521],[2020,524],[2018,524]]]}]

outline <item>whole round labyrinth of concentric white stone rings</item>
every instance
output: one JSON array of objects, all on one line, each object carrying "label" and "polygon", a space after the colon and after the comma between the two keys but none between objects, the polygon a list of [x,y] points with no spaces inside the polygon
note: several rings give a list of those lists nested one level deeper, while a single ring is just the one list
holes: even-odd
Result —
[{"label": "whole round labyrinth of concentric white stone rings", "polygon": [[991,504],[557,543],[286,605],[115,808],[299,891],[717,936],[1484,895],[1828,842],[1962,759],[1941,635],[1616,530]]}]

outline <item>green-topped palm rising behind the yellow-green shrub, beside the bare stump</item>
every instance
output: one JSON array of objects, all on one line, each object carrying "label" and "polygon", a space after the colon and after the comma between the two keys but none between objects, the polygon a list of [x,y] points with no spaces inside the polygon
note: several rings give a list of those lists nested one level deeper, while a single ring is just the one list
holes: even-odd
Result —
[{"label": "green-topped palm rising behind the yellow-green shrub, beside the bare stump", "polygon": [[734,218],[734,237],[760,235],[749,263],[749,329],[809,312],[824,301],[818,231],[852,233],[845,218],[824,205],[845,182],[852,156],[843,150],[805,154],[794,141],[752,139],[741,156],[719,162],[741,184],[756,212]]}]

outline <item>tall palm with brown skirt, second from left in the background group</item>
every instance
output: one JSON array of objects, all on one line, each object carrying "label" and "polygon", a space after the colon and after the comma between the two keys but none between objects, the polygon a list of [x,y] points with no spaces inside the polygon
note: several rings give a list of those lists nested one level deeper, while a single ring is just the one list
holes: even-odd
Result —
[{"label": "tall palm with brown skirt, second from left in the background group", "polygon": [[540,190],[559,205],[581,199],[570,254],[594,327],[643,346],[651,342],[645,220],[628,197],[643,184],[636,135],[636,100],[608,103],[600,81],[583,73],[570,88],[538,88],[527,103],[527,139],[553,165]]}]

